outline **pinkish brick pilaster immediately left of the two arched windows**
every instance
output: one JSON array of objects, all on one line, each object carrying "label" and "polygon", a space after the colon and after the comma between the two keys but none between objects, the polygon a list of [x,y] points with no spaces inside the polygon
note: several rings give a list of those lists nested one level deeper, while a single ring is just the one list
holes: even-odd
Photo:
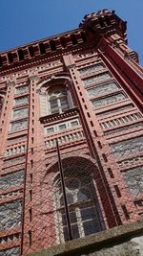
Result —
[{"label": "pinkish brick pilaster immediately left of the two arched windows", "polygon": [[25,179],[24,223],[22,253],[38,250],[42,247],[41,222],[41,175],[44,168],[44,139],[39,122],[40,105],[36,91],[38,78],[30,76],[30,113],[27,148],[27,169]]}]

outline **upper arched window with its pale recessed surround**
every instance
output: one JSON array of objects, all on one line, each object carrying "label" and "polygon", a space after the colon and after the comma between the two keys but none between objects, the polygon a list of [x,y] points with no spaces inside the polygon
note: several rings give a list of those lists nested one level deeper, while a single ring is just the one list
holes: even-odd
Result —
[{"label": "upper arched window with its pale recessed surround", "polygon": [[39,83],[37,90],[40,94],[42,115],[62,113],[73,106],[71,82],[69,76],[58,74]]}]

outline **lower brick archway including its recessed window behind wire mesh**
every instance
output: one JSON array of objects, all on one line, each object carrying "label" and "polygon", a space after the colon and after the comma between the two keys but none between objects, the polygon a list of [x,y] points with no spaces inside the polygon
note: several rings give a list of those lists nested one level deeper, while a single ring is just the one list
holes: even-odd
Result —
[{"label": "lower brick archway including its recessed window behind wire mesh", "polygon": [[[72,227],[76,228],[76,231],[72,230],[75,232],[73,238],[84,237],[105,229],[104,211],[96,186],[98,170],[94,161],[88,155],[85,157],[68,155],[62,158],[62,165],[70,215],[73,214],[76,219],[72,223]],[[78,184],[77,187],[76,184]],[[62,221],[65,218],[65,208],[57,159],[47,170],[43,180],[42,195],[43,209],[48,213],[47,222],[52,223],[52,241],[54,237],[54,244],[64,243],[68,235],[65,233],[67,225]],[[93,216],[91,220],[87,217],[88,211],[91,211]],[[86,217],[83,218],[87,218],[85,221],[82,220],[84,214]]]}]

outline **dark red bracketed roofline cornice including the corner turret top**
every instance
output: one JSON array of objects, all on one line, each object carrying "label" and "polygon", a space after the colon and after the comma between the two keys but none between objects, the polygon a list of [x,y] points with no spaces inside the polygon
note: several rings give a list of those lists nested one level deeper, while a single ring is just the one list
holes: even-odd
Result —
[{"label": "dark red bracketed roofline cornice including the corner turret top", "polygon": [[114,12],[103,10],[86,15],[79,29],[31,42],[0,55],[0,72],[5,75],[40,65],[48,59],[83,50],[98,42],[101,36],[117,33],[125,39],[126,22]]}]

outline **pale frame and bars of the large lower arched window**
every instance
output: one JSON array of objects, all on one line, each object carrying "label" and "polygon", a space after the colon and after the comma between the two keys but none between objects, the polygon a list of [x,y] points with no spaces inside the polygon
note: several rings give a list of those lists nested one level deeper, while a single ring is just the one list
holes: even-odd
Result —
[{"label": "pale frame and bars of the large lower arched window", "polygon": [[[67,180],[69,180],[70,178],[71,178],[70,176],[67,177]],[[82,182],[80,180],[80,176],[79,177],[73,176],[73,179],[74,178],[78,179],[79,188],[80,188],[80,186],[82,184]],[[71,221],[71,225],[72,225],[72,227],[77,226],[78,233],[79,233],[79,236],[73,237],[73,239],[90,235],[90,233],[86,234],[86,232],[88,232],[88,229],[86,229],[84,227],[84,223],[87,223],[89,221],[92,221],[94,228],[96,227],[96,230],[94,229],[94,232],[92,232],[91,234],[94,234],[96,232],[99,232],[99,231],[102,231],[103,229],[105,229],[105,224],[104,224],[103,216],[102,216],[100,205],[99,205],[99,200],[97,199],[97,196],[95,193],[95,187],[94,187],[92,175],[90,176],[90,179],[92,182],[92,189],[94,191],[94,194],[92,192],[91,186],[89,188],[88,184],[85,183],[83,188],[86,187],[86,189],[89,190],[89,192],[91,194],[91,198],[88,198],[88,199],[86,198],[85,200],[77,199],[77,195],[79,192],[78,189],[75,189],[72,192],[66,186],[67,195],[71,193],[72,198],[73,198],[73,201],[71,203],[68,203],[70,215],[74,212],[75,217],[76,217],[76,221],[74,221],[74,222]],[[57,183],[56,183],[56,185],[57,185]],[[82,188],[82,186],[81,186],[81,188]],[[91,191],[90,191],[90,189],[91,189]],[[64,204],[62,205],[60,203],[61,198],[62,198],[62,190],[61,190],[61,188],[58,187],[56,193],[54,193],[54,208],[55,208],[54,221],[56,222],[55,226],[58,226],[58,228],[56,230],[57,240],[59,243],[65,243],[68,241],[68,239],[65,240],[65,237],[64,237],[64,229],[67,229],[67,224],[63,223],[63,216],[65,216],[65,210],[64,210]],[[96,201],[95,201],[95,199],[96,199]],[[93,212],[92,212],[93,218],[83,220],[82,211],[87,210],[87,209],[88,210],[93,209]]]}]

